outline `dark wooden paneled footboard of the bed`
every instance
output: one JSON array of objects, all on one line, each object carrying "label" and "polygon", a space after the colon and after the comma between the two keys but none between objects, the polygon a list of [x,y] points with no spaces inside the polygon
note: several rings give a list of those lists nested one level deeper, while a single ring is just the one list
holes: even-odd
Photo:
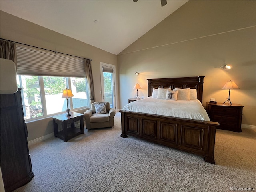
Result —
[{"label": "dark wooden paneled footboard of the bed", "polygon": [[121,110],[122,134],[204,156],[215,164],[217,122],[175,118]]}]

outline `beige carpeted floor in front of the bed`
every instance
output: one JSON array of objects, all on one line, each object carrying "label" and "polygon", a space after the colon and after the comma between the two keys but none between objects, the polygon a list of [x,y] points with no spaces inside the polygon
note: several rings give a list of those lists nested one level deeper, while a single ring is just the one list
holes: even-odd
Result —
[{"label": "beige carpeted floor in front of the bed", "polygon": [[34,178],[15,192],[218,192],[256,190],[256,130],[217,130],[216,165],[202,156],[120,137],[113,128],[30,146]]}]

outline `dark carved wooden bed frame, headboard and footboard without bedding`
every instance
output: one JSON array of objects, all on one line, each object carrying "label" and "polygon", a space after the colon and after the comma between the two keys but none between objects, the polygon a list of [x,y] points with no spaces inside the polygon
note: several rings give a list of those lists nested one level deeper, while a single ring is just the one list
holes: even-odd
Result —
[{"label": "dark carved wooden bed frame, headboard and footboard without bedding", "polygon": [[[158,88],[196,89],[196,98],[202,103],[204,76],[148,79],[148,97]],[[146,98],[145,98],[146,99]],[[137,102],[137,101],[136,101]],[[214,145],[218,122],[120,110],[121,137],[134,136],[186,152],[204,156],[215,164]]]}]

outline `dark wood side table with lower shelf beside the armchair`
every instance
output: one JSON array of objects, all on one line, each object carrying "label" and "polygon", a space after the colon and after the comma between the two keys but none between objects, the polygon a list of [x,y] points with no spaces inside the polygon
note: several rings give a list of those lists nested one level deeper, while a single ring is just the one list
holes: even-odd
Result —
[{"label": "dark wood side table with lower shelf beside the armchair", "polygon": [[[54,136],[61,138],[67,142],[70,138],[84,134],[84,114],[70,112],[71,116],[66,117],[66,114],[52,116],[54,126]],[[80,121],[80,129],[75,127],[75,122]],[[58,124],[62,125],[62,131],[58,131]],[[68,128],[68,124],[71,127]]]}]

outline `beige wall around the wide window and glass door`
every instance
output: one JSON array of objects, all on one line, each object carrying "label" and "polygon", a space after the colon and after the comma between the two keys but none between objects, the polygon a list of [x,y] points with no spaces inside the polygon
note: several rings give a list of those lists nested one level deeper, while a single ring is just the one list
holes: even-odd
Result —
[{"label": "beige wall around the wide window and glass door", "polygon": [[[1,38],[92,59],[92,75],[95,89],[94,99],[95,101],[101,101],[100,62],[115,65],[116,70],[118,70],[116,55],[7,14],[6,12],[1,11],[0,19]],[[80,112],[83,111],[81,110]],[[27,126],[28,141],[53,132],[52,118],[28,122]]]}]

